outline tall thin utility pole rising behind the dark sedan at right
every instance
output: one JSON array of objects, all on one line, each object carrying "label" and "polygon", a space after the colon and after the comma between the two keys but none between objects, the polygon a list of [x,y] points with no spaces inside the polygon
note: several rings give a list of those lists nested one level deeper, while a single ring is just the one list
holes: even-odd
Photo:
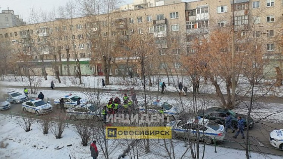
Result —
[{"label": "tall thin utility pole rising behind the dark sedan at right", "polygon": [[232,107],[236,106],[236,77],[235,77],[235,4],[233,0],[233,19],[232,19]]}]

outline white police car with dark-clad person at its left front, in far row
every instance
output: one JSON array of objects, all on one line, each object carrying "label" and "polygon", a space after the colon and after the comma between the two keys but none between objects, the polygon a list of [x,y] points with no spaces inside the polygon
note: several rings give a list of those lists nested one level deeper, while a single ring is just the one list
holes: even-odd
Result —
[{"label": "white police car with dark-clad person at its left front, in far row", "polygon": [[[81,97],[73,95],[73,94],[69,94],[63,97],[60,97],[58,99],[54,100],[54,106],[56,106],[56,108],[60,109],[60,99],[63,98],[64,100],[64,108],[70,108],[73,106],[77,105],[77,100]],[[86,103],[86,100],[80,100],[81,104]]]}]

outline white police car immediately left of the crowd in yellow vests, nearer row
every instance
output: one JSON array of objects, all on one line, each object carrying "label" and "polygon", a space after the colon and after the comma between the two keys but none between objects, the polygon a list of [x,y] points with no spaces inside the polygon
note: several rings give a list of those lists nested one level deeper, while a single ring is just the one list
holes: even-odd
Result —
[{"label": "white police car immediately left of the crowd in yellow vests, nearer row", "polygon": [[77,119],[100,119],[101,111],[100,109],[91,103],[81,104],[79,106],[74,106],[66,111],[66,116],[71,120]]}]

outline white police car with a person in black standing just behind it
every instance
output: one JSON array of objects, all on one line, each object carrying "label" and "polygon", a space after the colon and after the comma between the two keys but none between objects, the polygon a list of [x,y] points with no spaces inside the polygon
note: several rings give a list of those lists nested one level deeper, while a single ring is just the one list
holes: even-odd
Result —
[{"label": "white police car with a person in black standing just behind it", "polygon": [[41,100],[33,99],[22,104],[22,109],[24,112],[35,113],[36,115],[46,114],[52,111],[52,106]]}]

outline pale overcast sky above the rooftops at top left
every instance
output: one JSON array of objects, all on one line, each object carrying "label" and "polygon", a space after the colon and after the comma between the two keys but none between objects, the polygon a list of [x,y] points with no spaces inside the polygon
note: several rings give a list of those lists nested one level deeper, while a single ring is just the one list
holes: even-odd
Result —
[{"label": "pale overcast sky above the rooftops at top left", "polygon": [[[43,11],[53,10],[64,6],[69,0],[0,0],[2,10],[14,10],[16,15],[19,15],[24,21],[28,22],[31,8],[41,8]],[[76,0],[74,0],[77,2]],[[130,4],[133,0],[124,0],[126,4]]]}]

